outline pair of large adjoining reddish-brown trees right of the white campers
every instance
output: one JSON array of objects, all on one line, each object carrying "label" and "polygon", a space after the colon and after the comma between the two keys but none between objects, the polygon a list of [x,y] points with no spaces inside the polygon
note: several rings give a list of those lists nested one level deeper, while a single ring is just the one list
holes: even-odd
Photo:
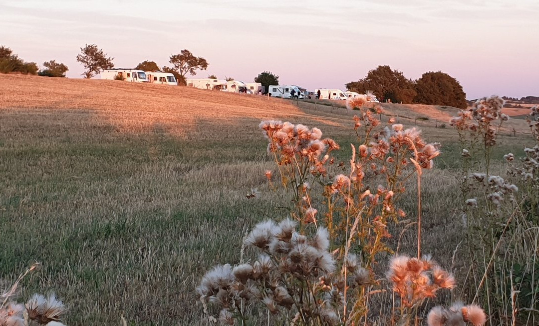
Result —
[{"label": "pair of large adjoining reddish-brown trees right of the white campers", "polygon": [[402,72],[391,70],[390,66],[378,66],[365,78],[345,86],[357,93],[371,92],[381,101],[467,107],[466,93],[460,83],[441,71],[426,72],[419,79],[411,80]]}]

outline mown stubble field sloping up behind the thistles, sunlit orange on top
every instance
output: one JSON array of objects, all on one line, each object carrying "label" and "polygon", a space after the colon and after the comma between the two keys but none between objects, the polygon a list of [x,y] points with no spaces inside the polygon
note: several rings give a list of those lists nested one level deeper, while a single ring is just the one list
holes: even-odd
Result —
[{"label": "mown stubble field sloping up behind the thistles, sunlit orange on top", "polygon": [[[133,325],[203,323],[195,287],[205,271],[237,263],[258,221],[286,216],[278,207],[288,199],[263,175],[273,164],[260,120],[319,127],[346,162],[347,114],[186,87],[0,75],[0,285],[38,261],[21,296],[56,292],[68,325],[115,325],[121,316]],[[461,278],[467,267],[459,252],[452,259],[463,234],[452,114],[426,106],[406,114],[394,115],[405,126],[413,114],[430,116],[419,127],[443,151],[424,176],[423,251]],[[524,121],[511,123],[516,137],[506,130],[495,159],[522,155],[529,140]],[[260,195],[247,199],[253,188]],[[413,219],[410,198],[402,206]],[[400,251],[413,253],[415,243],[405,233]]]}]

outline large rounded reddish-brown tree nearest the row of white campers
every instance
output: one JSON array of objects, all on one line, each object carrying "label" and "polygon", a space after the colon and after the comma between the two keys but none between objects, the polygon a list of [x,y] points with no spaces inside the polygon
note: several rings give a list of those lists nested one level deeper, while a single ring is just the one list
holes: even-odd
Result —
[{"label": "large rounded reddish-brown tree nearest the row of white campers", "polygon": [[378,66],[369,71],[367,77],[358,81],[351,81],[345,85],[349,91],[372,94],[380,100],[391,102],[411,103],[415,91],[413,82],[404,77],[398,70],[391,70],[390,66]]}]

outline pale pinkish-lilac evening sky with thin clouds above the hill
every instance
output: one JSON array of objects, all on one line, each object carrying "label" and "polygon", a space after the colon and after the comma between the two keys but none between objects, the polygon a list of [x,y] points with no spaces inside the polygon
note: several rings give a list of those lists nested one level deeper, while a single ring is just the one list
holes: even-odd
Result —
[{"label": "pale pinkish-lilac evening sky with thin clouds above the hill", "polygon": [[[442,71],[468,99],[539,96],[537,0],[0,0],[0,45],[26,61],[75,57],[97,44],[116,67],[169,65],[184,48],[207,71],[251,82],[340,88],[378,65],[417,79]],[[97,77],[99,78],[99,77]]]}]

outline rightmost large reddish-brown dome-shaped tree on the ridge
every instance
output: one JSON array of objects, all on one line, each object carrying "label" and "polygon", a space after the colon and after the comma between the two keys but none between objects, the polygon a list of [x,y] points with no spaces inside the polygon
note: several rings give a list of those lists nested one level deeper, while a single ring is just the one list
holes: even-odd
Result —
[{"label": "rightmost large reddish-brown dome-shaped tree on the ridge", "polygon": [[438,72],[426,72],[416,80],[417,96],[415,103],[428,105],[447,105],[465,109],[466,93],[460,83],[450,75]]}]

